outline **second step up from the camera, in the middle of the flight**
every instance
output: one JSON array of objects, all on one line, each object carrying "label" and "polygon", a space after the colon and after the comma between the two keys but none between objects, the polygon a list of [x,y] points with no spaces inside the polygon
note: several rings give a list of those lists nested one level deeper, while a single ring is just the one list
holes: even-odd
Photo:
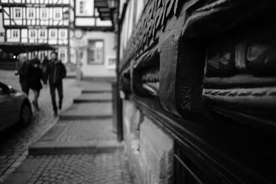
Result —
[{"label": "second step up from the camera, in the middle of the flight", "polygon": [[108,119],[112,117],[111,102],[75,103],[59,119]]}]

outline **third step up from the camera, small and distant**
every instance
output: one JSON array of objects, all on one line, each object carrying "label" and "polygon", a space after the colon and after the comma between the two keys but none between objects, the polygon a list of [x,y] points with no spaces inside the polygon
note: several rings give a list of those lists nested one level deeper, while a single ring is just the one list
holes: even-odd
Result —
[{"label": "third step up from the camera, small and distant", "polygon": [[89,102],[108,102],[112,101],[112,95],[110,92],[99,92],[99,93],[86,93],[81,94],[74,103],[89,103]]}]

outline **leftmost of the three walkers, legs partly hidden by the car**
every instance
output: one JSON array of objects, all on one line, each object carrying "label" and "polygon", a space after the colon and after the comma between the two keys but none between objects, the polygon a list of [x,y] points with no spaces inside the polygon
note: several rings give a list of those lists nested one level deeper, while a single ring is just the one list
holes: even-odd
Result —
[{"label": "leftmost of the three walkers, legs partly hidden by the car", "polygon": [[21,85],[21,90],[29,95],[30,90],[30,74],[32,65],[27,59],[26,53],[21,53],[18,55],[19,68],[15,70],[14,74],[19,75],[19,83]]}]

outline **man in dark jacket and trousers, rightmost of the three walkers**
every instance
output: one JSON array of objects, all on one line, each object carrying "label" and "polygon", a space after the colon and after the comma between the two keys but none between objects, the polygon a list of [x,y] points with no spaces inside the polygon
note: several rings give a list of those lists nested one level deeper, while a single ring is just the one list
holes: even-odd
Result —
[{"label": "man in dark jacket and trousers, rightmost of the three walkers", "polygon": [[63,65],[63,63],[61,63],[61,61],[57,59],[57,53],[52,52],[50,63],[48,63],[46,72],[45,72],[44,85],[47,86],[47,81],[49,81],[54,116],[58,115],[55,91],[57,90],[59,94],[59,110],[61,110],[62,100],[63,100],[62,79],[64,79],[65,77],[66,77],[65,65]]}]

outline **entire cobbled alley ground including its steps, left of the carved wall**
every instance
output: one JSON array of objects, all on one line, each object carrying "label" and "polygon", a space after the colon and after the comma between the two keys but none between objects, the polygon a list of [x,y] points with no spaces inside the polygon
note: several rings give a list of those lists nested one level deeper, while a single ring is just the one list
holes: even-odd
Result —
[{"label": "entire cobbled alley ground including its steps, left of the carved wall", "polygon": [[132,183],[123,145],[112,131],[110,83],[66,79],[64,87],[65,108],[59,119],[52,116],[46,89],[33,123],[24,129],[12,127],[5,134],[1,182]]}]

